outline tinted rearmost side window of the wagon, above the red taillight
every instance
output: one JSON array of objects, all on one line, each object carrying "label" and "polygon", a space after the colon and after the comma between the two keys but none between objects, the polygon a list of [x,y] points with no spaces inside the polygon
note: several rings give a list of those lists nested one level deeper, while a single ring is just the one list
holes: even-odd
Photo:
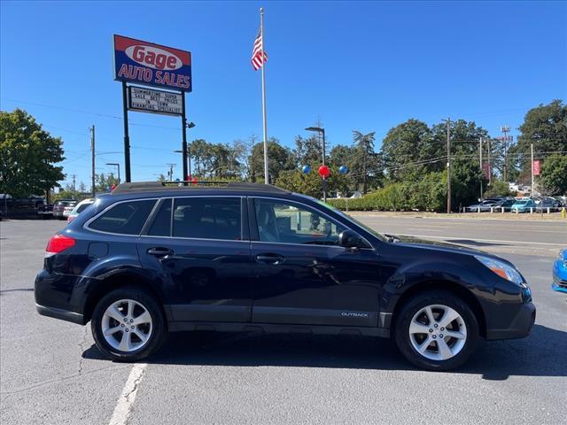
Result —
[{"label": "tinted rearmost side window of the wagon, above the red taillight", "polygon": [[89,228],[121,235],[139,235],[155,202],[155,200],[131,201],[114,205],[90,223]]}]

